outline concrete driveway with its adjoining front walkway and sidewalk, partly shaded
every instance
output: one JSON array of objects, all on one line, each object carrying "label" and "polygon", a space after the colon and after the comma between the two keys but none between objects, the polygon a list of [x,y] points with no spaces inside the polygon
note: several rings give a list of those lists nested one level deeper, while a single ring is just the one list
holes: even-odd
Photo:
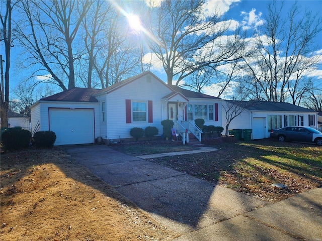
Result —
[{"label": "concrete driveway with its adjoining front walkway and sidewalk, partly shaded", "polygon": [[[322,188],[270,204],[144,160],[157,155],[133,157],[103,145],[66,149],[138,207],[180,233],[177,241],[322,240]],[[188,153],[163,156],[180,154]]]}]

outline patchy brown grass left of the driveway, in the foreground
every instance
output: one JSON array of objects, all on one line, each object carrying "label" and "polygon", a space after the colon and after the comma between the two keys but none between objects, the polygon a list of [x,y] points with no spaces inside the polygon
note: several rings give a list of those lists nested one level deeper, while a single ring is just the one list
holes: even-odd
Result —
[{"label": "patchy brown grass left of the driveway, in the foreground", "polygon": [[1,156],[1,240],[169,240],[176,234],[59,148]]}]

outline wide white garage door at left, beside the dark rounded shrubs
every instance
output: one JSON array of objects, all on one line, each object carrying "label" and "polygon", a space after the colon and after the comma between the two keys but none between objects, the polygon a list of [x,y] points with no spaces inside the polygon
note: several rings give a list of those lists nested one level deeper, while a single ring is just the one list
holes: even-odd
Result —
[{"label": "wide white garage door at left, beside the dark rounded shrubs", "polygon": [[94,143],[94,110],[50,108],[49,129],[56,134],[55,146]]}]

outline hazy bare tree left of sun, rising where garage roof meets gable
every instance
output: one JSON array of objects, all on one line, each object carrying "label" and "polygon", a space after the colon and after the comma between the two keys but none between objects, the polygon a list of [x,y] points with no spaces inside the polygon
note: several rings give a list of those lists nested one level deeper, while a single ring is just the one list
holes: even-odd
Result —
[{"label": "hazy bare tree left of sun, rising where garage roof meets gable", "polygon": [[93,66],[102,88],[137,74],[141,48],[129,38],[126,19],[116,9],[109,9],[105,18],[103,36],[94,54]]}]

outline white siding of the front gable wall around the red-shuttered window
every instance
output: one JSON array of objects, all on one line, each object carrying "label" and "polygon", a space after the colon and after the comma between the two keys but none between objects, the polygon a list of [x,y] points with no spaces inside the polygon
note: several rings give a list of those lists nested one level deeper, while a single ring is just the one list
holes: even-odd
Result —
[{"label": "white siding of the front gable wall around the red-shuttered window", "polygon": [[[164,84],[160,83],[153,76],[150,80],[147,76],[143,76],[133,82],[127,83],[121,88],[109,92],[107,99],[107,139],[119,140],[132,138],[130,130],[133,127],[145,129],[148,126],[153,126],[158,129],[158,135],[162,135],[163,127],[161,121],[168,117],[167,103],[162,101],[162,98],[172,91]],[[126,99],[133,102],[145,102],[146,111],[148,101],[153,102],[153,122],[148,123],[148,116],[145,122],[126,123]],[[132,106],[131,106],[132,112]],[[146,113],[148,115],[148,113]]]}]

